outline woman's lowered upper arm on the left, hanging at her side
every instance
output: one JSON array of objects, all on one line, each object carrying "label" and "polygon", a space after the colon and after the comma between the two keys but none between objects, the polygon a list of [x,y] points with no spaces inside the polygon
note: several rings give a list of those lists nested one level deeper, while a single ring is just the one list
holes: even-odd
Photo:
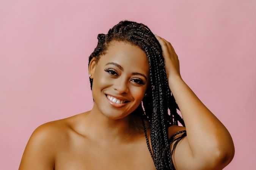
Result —
[{"label": "woman's lowered upper arm on the left, hanging at her side", "polygon": [[53,170],[56,150],[54,128],[48,122],[33,131],[22,155],[19,170]]}]

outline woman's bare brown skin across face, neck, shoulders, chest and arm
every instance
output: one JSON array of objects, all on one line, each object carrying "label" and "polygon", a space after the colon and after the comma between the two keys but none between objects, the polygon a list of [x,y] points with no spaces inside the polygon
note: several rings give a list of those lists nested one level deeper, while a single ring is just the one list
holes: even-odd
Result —
[{"label": "woman's bare brown skin across face, neck, shoulders, chest and arm", "polygon": [[[169,138],[177,131],[187,130],[187,136],[179,142],[174,152],[176,169],[225,167],[232,160],[232,153],[228,152],[233,151],[230,134],[182,81],[179,62],[170,44],[160,37],[157,39],[163,49],[169,87],[186,124],[186,128],[171,126]],[[113,64],[106,65],[109,62],[118,63],[122,69]],[[89,74],[93,79],[92,110],[36,128],[25,148],[19,170],[155,169],[141,120],[130,114],[138,107],[148,88],[149,64],[144,51],[126,42],[113,41],[98,62],[95,58],[91,60]],[[129,102],[116,108],[105,94],[124,97]],[[145,122],[150,134],[148,122]],[[216,127],[225,138],[217,138]],[[149,135],[148,138],[150,143]],[[206,142],[206,145],[202,146],[202,142]],[[228,148],[221,151],[225,146]],[[207,152],[209,150],[210,154]]]}]

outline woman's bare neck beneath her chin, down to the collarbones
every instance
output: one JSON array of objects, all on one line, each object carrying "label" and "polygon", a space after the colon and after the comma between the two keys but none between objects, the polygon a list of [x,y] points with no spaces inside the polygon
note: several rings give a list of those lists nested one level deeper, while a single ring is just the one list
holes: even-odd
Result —
[{"label": "woman's bare neck beneath her chin, down to the collarbones", "polygon": [[[86,128],[90,129],[90,136],[103,143],[125,142],[138,131],[141,121],[138,116],[129,114],[121,119],[111,119],[103,114],[94,103],[92,110],[86,113]],[[137,125],[137,126],[136,126]]]}]

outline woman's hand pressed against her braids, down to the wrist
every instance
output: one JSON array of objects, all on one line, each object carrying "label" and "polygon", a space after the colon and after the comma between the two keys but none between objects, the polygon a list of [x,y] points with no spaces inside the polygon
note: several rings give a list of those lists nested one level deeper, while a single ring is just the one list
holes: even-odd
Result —
[{"label": "woman's hand pressed against her braids, down to the wrist", "polygon": [[181,77],[179,70],[179,59],[174,51],[173,46],[170,42],[166,41],[162,37],[159,37],[156,34],[154,35],[162,47],[167,78],[170,79],[171,77]]}]

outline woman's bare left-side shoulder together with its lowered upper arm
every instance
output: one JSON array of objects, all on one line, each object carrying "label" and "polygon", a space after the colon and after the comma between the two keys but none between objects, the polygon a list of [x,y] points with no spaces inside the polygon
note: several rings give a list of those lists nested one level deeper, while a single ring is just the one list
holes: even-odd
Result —
[{"label": "woman's bare left-side shoulder together with its lowered upper arm", "polygon": [[19,170],[53,170],[55,154],[61,147],[61,142],[68,139],[68,124],[64,119],[40,125],[28,140]]}]

